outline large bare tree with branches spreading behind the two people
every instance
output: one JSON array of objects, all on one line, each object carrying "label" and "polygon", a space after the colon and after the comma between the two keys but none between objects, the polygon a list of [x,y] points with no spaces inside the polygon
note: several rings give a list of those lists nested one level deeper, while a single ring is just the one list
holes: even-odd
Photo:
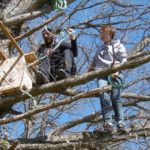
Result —
[{"label": "large bare tree with branches spreading behind the two people", "polygon": [[[15,40],[27,51],[41,43],[41,29],[47,25],[56,31],[71,27],[78,36],[78,73],[74,77],[34,87],[25,93],[13,93],[0,99],[0,124],[4,138],[18,139],[16,149],[137,149],[149,148],[149,6],[148,0],[68,0],[65,10],[54,10],[55,1],[4,0],[0,19]],[[86,73],[99,41],[99,27],[111,23],[128,50],[128,62],[106,70]],[[8,55],[14,47],[3,32],[1,49]],[[40,40],[39,40],[40,39]],[[14,55],[13,53],[12,55]],[[11,57],[11,56],[10,56]],[[124,71],[126,85],[122,100],[129,134],[107,135],[101,130],[98,93],[110,86],[96,88],[97,77]],[[34,106],[33,97],[37,106]],[[68,118],[67,118],[68,117]],[[128,143],[128,144],[127,144]]]}]

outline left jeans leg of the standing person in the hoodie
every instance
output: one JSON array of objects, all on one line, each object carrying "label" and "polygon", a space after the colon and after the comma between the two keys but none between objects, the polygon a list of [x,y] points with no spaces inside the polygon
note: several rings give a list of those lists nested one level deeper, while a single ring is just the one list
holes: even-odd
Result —
[{"label": "left jeans leg of the standing person in the hoodie", "polygon": [[[107,85],[108,85],[107,80],[105,79],[98,80],[98,87],[102,88]],[[100,93],[99,97],[104,124],[109,124],[112,126],[112,105],[110,94],[108,92]]]}]

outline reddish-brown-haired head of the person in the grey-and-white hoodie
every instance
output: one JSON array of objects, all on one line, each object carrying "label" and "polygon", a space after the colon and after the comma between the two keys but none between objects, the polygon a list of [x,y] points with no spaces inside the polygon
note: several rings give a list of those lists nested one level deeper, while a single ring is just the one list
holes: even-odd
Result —
[{"label": "reddish-brown-haired head of the person in the grey-and-white hoodie", "polygon": [[100,37],[104,43],[110,43],[115,35],[116,28],[111,25],[103,25],[101,27]]}]

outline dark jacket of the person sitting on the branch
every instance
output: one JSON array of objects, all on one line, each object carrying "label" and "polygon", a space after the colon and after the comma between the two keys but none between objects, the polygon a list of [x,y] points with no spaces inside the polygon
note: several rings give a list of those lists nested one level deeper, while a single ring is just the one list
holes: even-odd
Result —
[{"label": "dark jacket of the person sitting on the branch", "polygon": [[[42,44],[37,51],[37,57],[40,59],[46,56],[47,50],[50,48],[54,49],[56,46],[57,44],[54,44],[53,46]],[[71,74],[74,75],[76,73],[76,65],[75,65],[73,57],[77,57],[78,55],[77,43],[76,43],[76,40],[71,40],[71,44],[62,42],[59,45],[59,47],[55,51],[52,52],[51,55],[49,55],[46,59],[42,60],[42,61],[45,61],[45,63],[42,62],[42,64],[51,66],[50,72],[54,76],[57,74],[58,69],[64,68],[64,51],[68,49],[72,51]],[[45,66],[41,66],[41,67],[45,67]]]}]

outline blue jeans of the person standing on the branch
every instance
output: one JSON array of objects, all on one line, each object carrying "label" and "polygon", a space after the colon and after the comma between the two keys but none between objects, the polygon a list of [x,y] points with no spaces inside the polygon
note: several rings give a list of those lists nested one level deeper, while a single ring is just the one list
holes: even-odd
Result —
[{"label": "blue jeans of the person standing on the branch", "polygon": [[[98,79],[97,86],[104,87],[108,85],[107,79]],[[101,110],[103,115],[104,122],[112,122],[112,110],[115,113],[115,120],[117,123],[122,123],[124,116],[123,116],[123,109],[122,103],[120,100],[120,88],[112,88],[110,92],[104,92],[99,95],[100,97],[100,104]]]}]

